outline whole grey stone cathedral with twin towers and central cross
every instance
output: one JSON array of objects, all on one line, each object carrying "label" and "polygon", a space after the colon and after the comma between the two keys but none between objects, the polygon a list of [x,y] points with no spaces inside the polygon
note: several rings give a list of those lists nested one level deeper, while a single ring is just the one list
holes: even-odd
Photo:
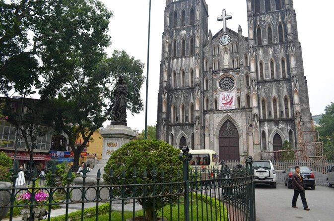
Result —
[{"label": "whole grey stone cathedral with twin towers and central cross", "polygon": [[222,160],[279,159],[285,141],[314,156],[293,1],[245,3],[248,37],[228,28],[225,9],[211,33],[205,0],[166,0],[157,138]]}]

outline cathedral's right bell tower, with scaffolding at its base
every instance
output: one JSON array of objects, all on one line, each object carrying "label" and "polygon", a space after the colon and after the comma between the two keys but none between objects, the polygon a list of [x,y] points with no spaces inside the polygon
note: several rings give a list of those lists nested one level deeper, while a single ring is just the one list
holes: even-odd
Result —
[{"label": "cathedral's right bell tower, with scaffolding at its base", "polygon": [[[251,77],[257,85],[261,150],[285,140],[314,156],[313,121],[292,0],[247,0]],[[311,145],[310,145],[311,144]]]}]

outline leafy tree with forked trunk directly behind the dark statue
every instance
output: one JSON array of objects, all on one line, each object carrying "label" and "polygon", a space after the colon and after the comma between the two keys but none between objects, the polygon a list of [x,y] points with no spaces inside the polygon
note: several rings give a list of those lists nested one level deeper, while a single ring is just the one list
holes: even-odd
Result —
[{"label": "leafy tree with forked trunk directly behind the dark statue", "polygon": [[[91,63],[94,62],[93,60]],[[59,89],[58,96],[51,98],[49,119],[55,122],[56,131],[68,136],[69,146],[74,153],[74,167],[96,129],[112,119],[115,84],[120,76],[128,85],[127,107],[132,113],[142,110],[143,104],[138,93],[144,81],[143,63],[125,51],[115,51],[110,58],[86,65],[85,59],[78,58],[78,70],[67,75],[67,83]],[[76,146],[77,137],[82,143]]]}]

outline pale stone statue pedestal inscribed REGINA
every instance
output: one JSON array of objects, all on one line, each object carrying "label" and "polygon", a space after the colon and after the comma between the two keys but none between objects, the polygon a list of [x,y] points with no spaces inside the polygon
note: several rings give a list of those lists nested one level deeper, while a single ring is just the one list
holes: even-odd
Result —
[{"label": "pale stone statue pedestal inscribed REGINA", "polygon": [[[105,185],[103,183],[104,167],[106,166],[110,155],[137,136],[130,127],[125,125],[108,125],[106,128],[100,130],[100,134],[103,137],[102,159],[99,160],[99,163],[95,165],[90,172],[87,172],[87,178],[85,180],[85,186],[87,187],[97,185],[96,176],[99,169],[101,172],[100,185]],[[77,177],[74,179],[74,185],[82,186],[82,181],[82,177]],[[102,189],[100,196],[109,196],[108,190],[106,188]],[[87,189],[85,197],[87,200],[94,200],[96,197],[96,190],[94,188]],[[79,199],[81,199],[81,193],[79,190],[74,189],[72,191],[71,200],[76,201]]]}]

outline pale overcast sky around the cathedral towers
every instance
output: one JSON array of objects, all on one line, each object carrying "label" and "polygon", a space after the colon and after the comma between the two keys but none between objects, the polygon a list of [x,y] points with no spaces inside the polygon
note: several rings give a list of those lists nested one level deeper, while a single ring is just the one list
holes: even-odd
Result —
[{"label": "pale overcast sky around the cathedral towers", "polygon": [[[112,45],[108,54],[111,55],[115,49],[125,50],[145,63],[146,76],[149,0],[102,1],[114,12],[109,31]],[[166,0],[151,1],[147,125],[152,126],[156,124],[157,117],[165,3]],[[208,28],[212,35],[222,28],[222,22],[218,22],[217,17],[225,9],[227,14],[232,15],[232,19],[227,20],[227,27],[237,32],[241,25],[243,36],[248,37],[246,0],[206,0],[206,3],[209,12]],[[293,0],[293,3],[303,52],[304,74],[308,82],[310,110],[312,115],[322,114],[325,107],[334,102],[334,73],[329,65],[333,62],[331,57],[334,44],[332,38],[328,37],[333,26],[334,1]],[[140,94],[145,107],[146,83],[143,84]],[[129,127],[141,132],[145,127],[145,110],[134,116],[128,113],[127,122]],[[108,124],[110,122],[104,125]]]}]

